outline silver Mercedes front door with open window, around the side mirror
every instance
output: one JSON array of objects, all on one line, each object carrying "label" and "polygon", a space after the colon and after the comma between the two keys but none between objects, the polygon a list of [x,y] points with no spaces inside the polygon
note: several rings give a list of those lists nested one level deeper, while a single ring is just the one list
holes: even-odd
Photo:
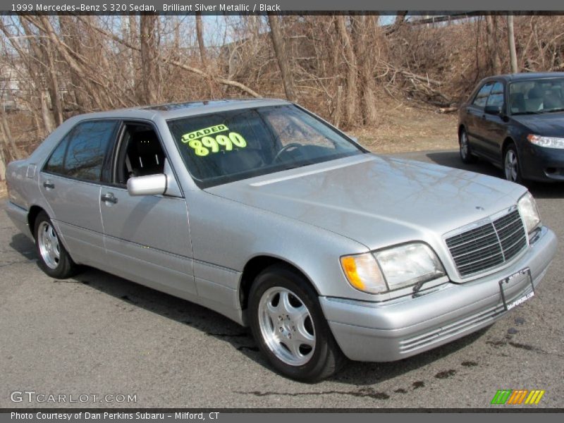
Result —
[{"label": "silver Mercedes front door with open window, around the side mirror", "polygon": [[[167,177],[165,195],[129,195],[128,178],[159,173]],[[106,269],[181,298],[195,295],[188,207],[150,123],[122,124],[98,206]]]}]

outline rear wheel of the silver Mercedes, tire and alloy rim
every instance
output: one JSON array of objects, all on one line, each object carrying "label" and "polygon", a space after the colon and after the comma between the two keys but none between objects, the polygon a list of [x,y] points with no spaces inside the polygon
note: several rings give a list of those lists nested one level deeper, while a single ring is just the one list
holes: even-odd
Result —
[{"label": "rear wheel of the silver Mercedes, tire and alloy rim", "polygon": [[47,213],[39,212],[35,219],[35,247],[39,267],[52,278],[68,278],[76,273],[77,266],[59,240]]}]

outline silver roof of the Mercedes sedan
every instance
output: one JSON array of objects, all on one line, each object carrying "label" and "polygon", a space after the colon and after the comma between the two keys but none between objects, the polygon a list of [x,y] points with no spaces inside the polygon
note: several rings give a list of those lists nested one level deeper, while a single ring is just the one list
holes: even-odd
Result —
[{"label": "silver roof of the Mercedes sedan", "polygon": [[75,116],[80,121],[94,118],[145,118],[152,119],[157,115],[162,118],[176,119],[219,111],[254,109],[265,106],[283,106],[292,104],[282,99],[221,99],[201,100],[197,102],[155,104],[152,106],[137,106],[127,109],[98,111]]}]

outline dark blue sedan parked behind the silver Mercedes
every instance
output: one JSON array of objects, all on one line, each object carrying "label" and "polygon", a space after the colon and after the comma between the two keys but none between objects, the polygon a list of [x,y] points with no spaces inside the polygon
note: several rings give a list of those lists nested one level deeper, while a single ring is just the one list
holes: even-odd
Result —
[{"label": "dark blue sedan parked behind the silver Mercedes", "polygon": [[564,73],[480,81],[458,118],[460,159],[503,168],[505,179],[564,180]]}]

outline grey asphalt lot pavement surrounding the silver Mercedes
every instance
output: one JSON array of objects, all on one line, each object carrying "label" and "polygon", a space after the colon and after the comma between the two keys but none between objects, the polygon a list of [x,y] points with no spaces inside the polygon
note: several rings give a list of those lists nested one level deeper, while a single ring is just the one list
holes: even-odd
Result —
[{"label": "grey asphalt lot pavement surrounding the silver Mercedes", "polygon": [[[458,152],[399,155],[501,173],[462,166]],[[530,190],[564,240],[564,185]],[[537,295],[488,329],[401,362],[350,362],[308,385],[272,372],[225,317],[94,269],[53,280],[4,212],[0,229],[0,407],[489,407],[505,388],[544,389],[539,406],[564,406],[562,248]],[[137,402],[12,403],[13,391]]]}]

